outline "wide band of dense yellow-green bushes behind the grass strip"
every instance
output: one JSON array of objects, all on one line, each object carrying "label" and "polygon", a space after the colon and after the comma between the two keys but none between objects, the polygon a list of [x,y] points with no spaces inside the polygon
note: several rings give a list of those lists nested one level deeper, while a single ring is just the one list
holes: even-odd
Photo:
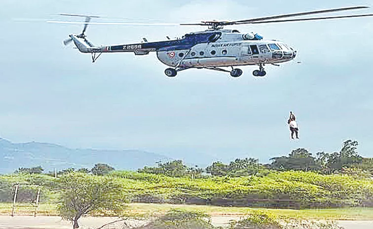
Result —
[{"label": "wide band of dense yellow-green bushes behind the grass strip", "polygon": [[[276,208],[373,206],[373,180],[346,174],[272,171],[264,176],[190,179],[113,171],[103,177],[120,183],[132,202]],[[43,174],[0,176],[0,200],[11,201],[8,193],[19,182],[41,184],[40,201],[55,202],[61,193],[59,179]]]}]

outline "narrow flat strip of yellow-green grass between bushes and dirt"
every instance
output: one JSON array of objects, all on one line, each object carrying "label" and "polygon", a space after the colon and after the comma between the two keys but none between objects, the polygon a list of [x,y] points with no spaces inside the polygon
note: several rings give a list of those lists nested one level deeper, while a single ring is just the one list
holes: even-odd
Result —
[{"label": "narrow flat strip of yellow-green grass between bushes and dirt", "polygon": [[[217,207],[205,205],[174,205],[174,204],[146,204],[131,203],[127,211],[130,214],[163,214],[170,209],[184,209],[203,211],[212,216],[240,216],[250,213],[251,209],[265,210],[278,216],[301,219],[323,219],[323,220],[373,220],[373,208],[332,208],[332,209],[263,209],[247,207]],[[12,209],[11,203],[0,203],[0,214],[10,215]],[[33,207],[22,207],[15,209],[15,215],[32,215]],[[54,204],[40,204],[37,210],[38,215],[57,216],[57,206]]]}]

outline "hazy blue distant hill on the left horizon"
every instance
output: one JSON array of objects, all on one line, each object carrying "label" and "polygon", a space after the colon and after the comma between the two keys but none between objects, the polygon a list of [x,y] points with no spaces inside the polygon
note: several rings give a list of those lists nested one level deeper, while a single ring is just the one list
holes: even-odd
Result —
[{"label": "hazy blue distant hill on the left horizon", "polygon": [[0,174],[12,173],[19,167],[41,165],[44,172],[48,172],[55,168],[92,168],[97,163],[120,170],[135,170],[157,161],[172,160],[139,150],[70,149],[49,143],[12,143],[3,138],[0,138],[0,158]]}]

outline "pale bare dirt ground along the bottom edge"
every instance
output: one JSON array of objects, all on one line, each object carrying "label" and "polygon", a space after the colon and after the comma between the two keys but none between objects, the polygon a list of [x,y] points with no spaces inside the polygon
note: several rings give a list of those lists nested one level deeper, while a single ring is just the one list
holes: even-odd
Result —
[{"label": "pale bare dirt ground along the bottom edge", "polygon": [[[80,229],[97,229],[102,225],[117,220],[115,217],[82,217],[79,220]],[[213,216],[212,224],[226,226],[230,220],[238,220],[238,216]],[[131,225],[142,225],[145,222],[130,222]],[[345,229],[373,229],[373,221],[338,221]],[[118,222],[103,229],[121,228]],[[72,224],[57,216],[0,216],[0,229],[72,229]]]}]

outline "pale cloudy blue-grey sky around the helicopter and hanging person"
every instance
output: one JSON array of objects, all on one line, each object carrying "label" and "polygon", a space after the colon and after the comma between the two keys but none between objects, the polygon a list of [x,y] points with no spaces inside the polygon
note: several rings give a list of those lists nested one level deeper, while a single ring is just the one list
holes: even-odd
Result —
[{"label": "pale cloudy blue-grey sky around the helicopter and hanging person", "polygon": [[[89,55],[62,44],[80,25],[14,20],[80,13],[179,23],[350,5],[373,6],[373,0],[1,0],[0,136],[73,148],[141,149],[187,160],[207,154],[262,162],[297,147],[338,150],[352,138],[361,154],[373,157],[373,17],[235,27],[298,50],[302,64],[266,66],[267,76],[259,79],[250,66],[237,79],[198,69],[170,79],[154,53],[104,54],[92,64]],[[355,13],[373,9],[350,12]],[[97,25],[86,34],[101,45],[203,29]],[[289,140],[290,110],[298,117],[298,142]]]}]

